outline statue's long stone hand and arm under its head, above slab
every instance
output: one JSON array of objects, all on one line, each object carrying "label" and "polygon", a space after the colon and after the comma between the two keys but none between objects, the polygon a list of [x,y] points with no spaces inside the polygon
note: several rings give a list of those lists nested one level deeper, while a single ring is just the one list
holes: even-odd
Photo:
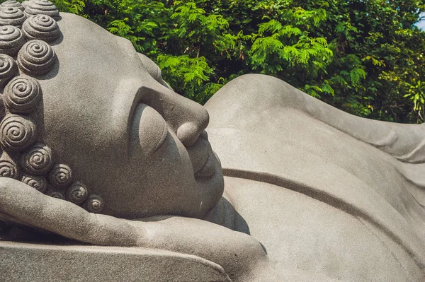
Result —
[{"label": "statue's long stone hand and arm under its head, above slab", "polygon": [[208,221],[173,216],[128,221],[89,213],[69,201],[52,198],[6,177],[0,177],[0,213],[9,221],[92,245],[193,254],[219,264],[236,276],[246,275],[268,261],[253,237]]}]

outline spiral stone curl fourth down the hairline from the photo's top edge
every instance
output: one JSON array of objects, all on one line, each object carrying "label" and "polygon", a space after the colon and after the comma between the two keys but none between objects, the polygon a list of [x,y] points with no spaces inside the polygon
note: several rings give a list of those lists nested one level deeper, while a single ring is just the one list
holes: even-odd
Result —
[{"label": "spiral stone curl fourth down the hairline from the photo's top edge", "polygon": [[4,89],[4,102],[13,113],[33,112],[41,100],[40,83],[34,78],[16,76]]}]

